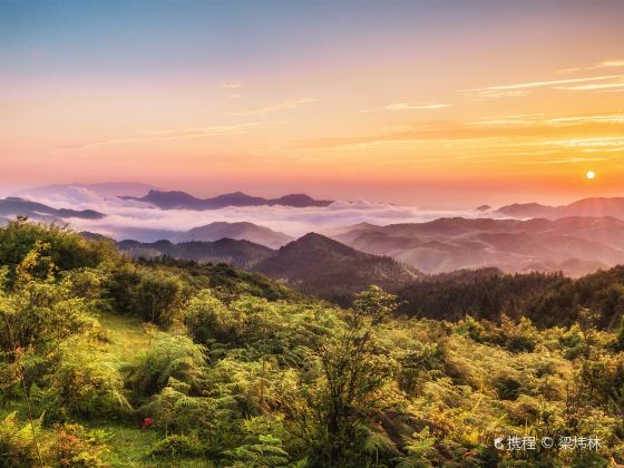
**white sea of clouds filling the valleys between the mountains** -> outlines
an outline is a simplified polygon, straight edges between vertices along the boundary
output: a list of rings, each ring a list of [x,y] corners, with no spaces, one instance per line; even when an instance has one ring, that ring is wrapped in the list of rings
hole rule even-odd
[[[106,216],[101,220],[70,218],[68,222],[79,231],[96,232],[116,240],[135,238],[144,242],[175,238],[176,234],[213,222],[251,222],[299,237],[308,232],[332,234],[363,222],[377,225],[422,223],[439,217],[478,217],[480,214],[476,211],[420,209],[365,199],[339,201],[326,207],[306,208],[276,205],[232,206],[201,212],[160,209],[143,202],[101,195],[80,186],[23,193],[21,196],[55,208],[98,211]]]

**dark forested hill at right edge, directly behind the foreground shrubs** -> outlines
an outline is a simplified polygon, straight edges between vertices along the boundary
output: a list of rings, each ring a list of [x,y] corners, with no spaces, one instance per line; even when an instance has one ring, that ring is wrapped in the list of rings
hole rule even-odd
[[[579,279],[560,273],[504,274],[496,269],[426,276],[397,291],[409,316],[499,321],[529,318],[540,326],[569,325],[591,311],[613,329],[624,314],[624,265]]]

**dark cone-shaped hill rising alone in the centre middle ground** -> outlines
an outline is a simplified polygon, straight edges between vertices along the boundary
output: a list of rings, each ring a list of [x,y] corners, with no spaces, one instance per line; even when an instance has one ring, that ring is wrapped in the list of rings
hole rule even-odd
[[[254,270],[343,304],[371,284],[393,290],[420,276],[392,259],[358,252],[315,233],[286,244]]]

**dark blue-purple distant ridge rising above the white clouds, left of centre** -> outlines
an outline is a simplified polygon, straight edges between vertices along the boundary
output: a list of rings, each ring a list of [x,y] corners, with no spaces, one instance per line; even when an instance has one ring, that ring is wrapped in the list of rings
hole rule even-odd
[[[234,192],[223,194],[213,198],[197,198],[186,192],[162,192],[150,189],[149,193],[143,197],[123,196],[123,199],[135,199],[139,202],[149,203],[162,209],[218,209],[227,206],[293,206],[304,208],[310,206],[329,206],[333,201],[329,199],[314,199],[305,194],[290,194],[280,198],[263,198],[259,196],[251,196],[242,192]]]

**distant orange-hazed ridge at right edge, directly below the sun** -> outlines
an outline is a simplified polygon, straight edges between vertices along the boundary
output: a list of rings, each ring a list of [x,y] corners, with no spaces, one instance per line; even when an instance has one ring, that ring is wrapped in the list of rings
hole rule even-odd
[[[624,220],[624,197],[593,197],[584,198],[568,205],[548,206],[539,203],[515,203],[501,206],[495,213],[521,218],[545,217],[558,220],[562,217],[613,216]]]

